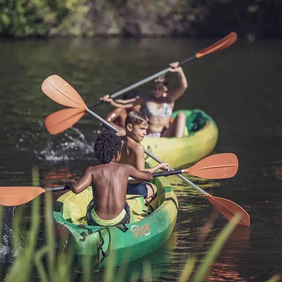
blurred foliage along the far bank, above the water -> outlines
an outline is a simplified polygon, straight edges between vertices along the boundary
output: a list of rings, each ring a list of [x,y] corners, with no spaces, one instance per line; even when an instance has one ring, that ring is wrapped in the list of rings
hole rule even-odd
[[[0,34],[281,36],[280,0],[0,0]]]

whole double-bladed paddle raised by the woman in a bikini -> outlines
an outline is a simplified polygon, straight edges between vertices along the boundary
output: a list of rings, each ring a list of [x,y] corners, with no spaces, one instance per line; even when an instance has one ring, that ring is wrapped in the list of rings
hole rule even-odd
[[[227,47],[229,47],[231,44],[233,44],[235,41],[237,40],[237,34],[235,32],[231,32],[229,33],[227,36],[223,37],[222,39],[218,40],[216,43],[210,45],[209,47],[201,50],[200,52],[198,52],[196,55],[180,62],[180,66],[181,65],[184,65],[188,62],[191,62],[193,60],[196,60],[198,58],[201,58],[205,55],[208,55],[208,54],[212,54],[212,53],[216,53],[218,51],[221,51]],[[170,70],[170,68],[166,68],[164,70],[161,70],[151,76],[148,76],[147,78],[141,80],[141,81],[138,81],[136,83],[134,83],[133,85],[131,86],[128,86],[120,91],[117,91],[115,93],[113,93],[110,97],[111,98],[115,98],[115,97],[118,97],[119,95],[125,93],[125,92],[128,92],[138,86],[141,86],[151,80],[153,80],[154,78],[157,78],[163,74],[165,74],[166,72],[168,72]],[[44,84],[42,85],[42,90],[43,90],[43,87],[48,87],[48,84]],[[67,91],[67,89],[65,89],[65,91]],[[44,92],[44,90],[43,90]],[[52,99],[52,98],[51,98]],[[55,100],[56,101],[56,100]],[[77,101],[78,102],[78,101]],[[91,109],[93,107],[96,107],[100,104],[102,104],[103,101],[98,101],[94,104],[92,104],[91,106],[89,106],[88,108]],[[65,105],[65,104],[64,104]],[[73,107],[73,108],[77,108],[75,106],[72,106],[72,103],[68,103],[67,105],[65,105],[67,107]],[[61,133],[63,132],[64,130],[70,128],[71,126],[73,126],[75,123],[77,123],[82,117],[83,115],[85,114],[85,111],[81,111],[81,110],[75,110],[73,108],[68,108],[68,109],[63,109],[63,110],[60,110],[58,112],[55,112],[55,113],[52,113],[50,116],[47,117],[47,124],[46,124],[46,128],[47,130],[49,131],[50,134],[58,134],[58,133]],[[52,121],[54,122],[55,121],[55,124],[54,126],[52,126]]]

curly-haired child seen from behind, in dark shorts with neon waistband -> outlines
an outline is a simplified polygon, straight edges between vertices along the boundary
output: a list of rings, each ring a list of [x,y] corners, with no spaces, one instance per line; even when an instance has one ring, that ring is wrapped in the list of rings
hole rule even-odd
[[[137,170],[129,164],[119,164],[122,142],[112,131],[104,131],[94,146],[95,156],[101,165],[86,169],[78,181],[66,185],[76,194],[92,185],[93,200],[87,206],[88,225],[111,226],[129,223],[130,212],[126,202],[128,176],[143,181],[152,180],[149,171]]]

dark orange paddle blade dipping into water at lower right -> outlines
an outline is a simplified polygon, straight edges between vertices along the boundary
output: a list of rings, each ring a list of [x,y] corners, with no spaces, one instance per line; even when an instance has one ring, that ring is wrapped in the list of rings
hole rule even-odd
[[[240,220],[237,224],[243,226],[250,226],[250,217],[242,207],[238,206],[232,201],[214,197],[208,193],[206,193],[206,197],[212,203],[212,205],[215,206],[216,209],[228,220],[231,220],[231,218],[236,215],[240,217]]]

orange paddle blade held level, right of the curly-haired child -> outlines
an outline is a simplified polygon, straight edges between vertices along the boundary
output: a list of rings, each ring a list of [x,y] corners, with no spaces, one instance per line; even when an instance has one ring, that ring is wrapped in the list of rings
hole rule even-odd
[[[238,171],[238,158],[232,153],[216,154],[197,162],[186,173],[201,178],[220,179],[233,177]]]

